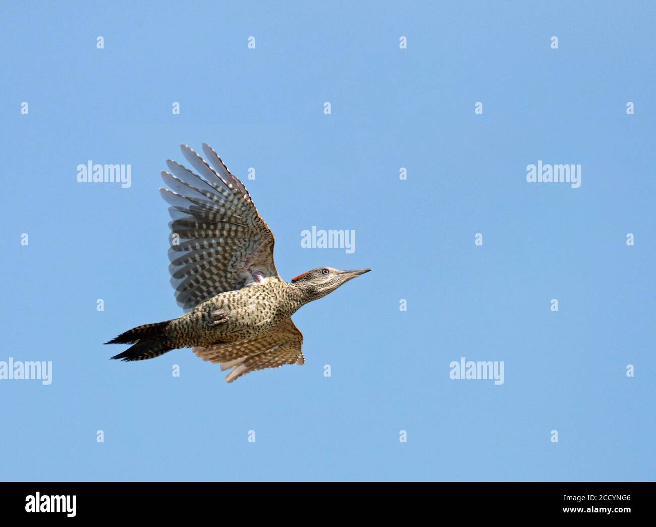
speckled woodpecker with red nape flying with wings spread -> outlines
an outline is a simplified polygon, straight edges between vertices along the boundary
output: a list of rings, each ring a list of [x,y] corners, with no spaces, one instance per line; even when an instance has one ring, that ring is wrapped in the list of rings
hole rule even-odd
[[[159,192],[172,221],[171,284],[186,313],[144,324],[106,344],[131,344],[113,359],[155,358],[190,347],[230,370],[226,381],[258,369],[304,364],[303,335],[291,320],[301,306],[325,297],[371,269],[318,267],[285,282],[274,263],[274,233],[251,195],[211,146],[207,160],[186,144],[194,171],[168,159]]]

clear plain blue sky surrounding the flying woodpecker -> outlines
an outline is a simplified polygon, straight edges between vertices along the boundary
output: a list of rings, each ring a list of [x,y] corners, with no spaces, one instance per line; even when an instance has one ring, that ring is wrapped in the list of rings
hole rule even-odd
[[[0,380],[0,479],[653,480],[654,4],[277,4],[3,3],[0,360],[53,373]],[[305,366],[108,360],[182,314],[182,142],[245,180],[286,280],[373,268],[293,317]],[[78,183],[89,159],[132,186]],[[581,188],[527,183],[538,159]],[[504,384],[450,379],[462,356]]]

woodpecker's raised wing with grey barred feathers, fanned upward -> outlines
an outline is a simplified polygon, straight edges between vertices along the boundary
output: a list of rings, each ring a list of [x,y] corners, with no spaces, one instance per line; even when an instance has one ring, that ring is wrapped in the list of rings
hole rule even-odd
[[[224,291],[258,279],[281,280],[274,263],[274,234],[251,196],[211,146],[209,161],[183,144],[182,154],[198,171],[167,160],[160,188],[171,205],[171,285],[178,305],[190,310]]]

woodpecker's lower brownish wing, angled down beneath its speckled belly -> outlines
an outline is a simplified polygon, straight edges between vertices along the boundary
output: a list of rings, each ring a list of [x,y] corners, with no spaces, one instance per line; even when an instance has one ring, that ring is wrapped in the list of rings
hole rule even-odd
[[[305,364],[301,347],[303,334],[287,318],[255,337],[211,347],[196,347],[194,353],[203,360],[220,363],[221,369],[232,369],[226,377],[232,383],[237,377],[264,368],[278,368],[284,364]]]

